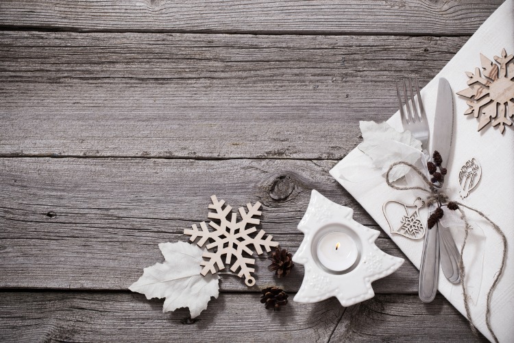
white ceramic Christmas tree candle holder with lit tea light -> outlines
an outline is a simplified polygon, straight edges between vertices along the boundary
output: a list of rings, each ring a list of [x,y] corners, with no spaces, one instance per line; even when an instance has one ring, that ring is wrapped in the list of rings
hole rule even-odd
[[[305,237],[293,261],[304,265],[305,276],[294,301],[317,303],[335,296],[341,305],[351,306],[372,298],[371,283],[400,268],[404,259],[377,248],[379,231],[359,224],[353,214],[312,191],[298,224]]]

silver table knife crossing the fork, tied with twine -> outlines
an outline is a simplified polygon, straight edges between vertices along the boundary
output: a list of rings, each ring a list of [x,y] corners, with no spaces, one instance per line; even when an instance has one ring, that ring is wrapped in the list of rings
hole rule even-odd
[[[448,157],[453,143],[453,94],[450,83],[445,78],[439,79],[437,90],[437,104],[434,119],[434,130],[432,133],[432,152],[437,150],[443,158],[445,167],[448,163]],[[439,224],[428,229],[425,235],[423,252],[421,254],[421,265],[419,267],[419,298],[425,303],[430,303],[437,293],[437,285],[439,284],[439,257],[440,257],[440,241],[439,241]],[[445,230],[445,228],[441,228]],[[446,235],[445,235],[446,237]],[[453,243],[454,244],[454,243]],[[450,270],[452,266],[448,249],[443,249],[443,260],[445,264],[443,270]],[[449,263],[449,264],[448,264]],[[450,277],[453,277],[450,275]]]

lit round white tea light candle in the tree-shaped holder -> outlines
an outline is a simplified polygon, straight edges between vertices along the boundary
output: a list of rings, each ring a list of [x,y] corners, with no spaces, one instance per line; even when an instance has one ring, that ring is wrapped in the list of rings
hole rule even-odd
[[[358,257],[354,239],[339,231],[321,237],[316,252],[319,262],[334,272],[342,272],[352,267]]]

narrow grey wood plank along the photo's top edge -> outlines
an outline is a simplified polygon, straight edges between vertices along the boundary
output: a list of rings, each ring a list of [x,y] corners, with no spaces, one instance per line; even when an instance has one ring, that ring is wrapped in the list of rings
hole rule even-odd
[[[1,24],[77,31],[473,34],[502,0],[3,0]]]

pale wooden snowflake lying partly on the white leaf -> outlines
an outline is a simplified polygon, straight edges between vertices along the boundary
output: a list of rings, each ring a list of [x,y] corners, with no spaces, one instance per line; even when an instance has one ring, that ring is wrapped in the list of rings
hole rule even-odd
[[[260,220],[258,218],[254,218],[256,215],[260,215],[260,202],[256,202],[252,206],[252,204],[248,203],[247,209],[248,212],[245,211],[244,207],[239,208],[239,214],[241,215],[241,221],[237,222],[236,213],[232,213],[232,217],[228,220],[228,215],[232,211],[232,206],[225,206],[223,209],[223,205],[225,204],[224,200],[218,200],[216,196],[211,196],[212,204],[209,205],[209,209],[215,210],[215,212],[209,212],[207,217],[215,220],[219,220],[220,224],[215,222],[209,222],[209,226],[214,228],[214,231],[209,231],[206,222],[201,222],[200,227],[201,230],[198,229],[196,224],[193,224],[192,230],[185,229],[184,235],[191,236],[191,241],[195,241],[198,237],[200,237],[199,241],[197,241],[198,246],[204,246],[207,241],[206,248],[211,251],[206,251],[202,255],[204,257],[204,261],[200,263],[200,265],[204,265],[204,268],[201,270],[201,274],[206,276],[209,272],[211,274],[215,274],[217,270],[221,270],[225,268],[225,264],[232,265],[230,270],[232,272],[236,272],[239,268],[241,270],[238,273],[239,277],[245,276],[245,283],[247,286],[253,286],[255,284],[255,279],[252,276],[252,273],[255,271],[254,268],[249,267],[248,265],[254,265],[255,259],[243,257],[243,252],[246,252],[248,255],[253,255],[254,252],[249,248],[250,245],[253,245],[257,254],[262,254],[262,248],[265,248],[267,252],[271,251],[271,247],[278,246],[278,242],[272,241],[273,237],[268,235],[266,239],[262,239],[265,235],[264,230],[260,230],[259,233],[255,237],[250,237],[249,235],[256,232],[255,226],[251,228],[246,228],[248,224],[259,224]],[[225,255],[225,261],[223,262],[223,255]],[[232,263],[232,257],[236,258],[236,261]]]

